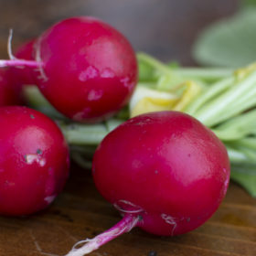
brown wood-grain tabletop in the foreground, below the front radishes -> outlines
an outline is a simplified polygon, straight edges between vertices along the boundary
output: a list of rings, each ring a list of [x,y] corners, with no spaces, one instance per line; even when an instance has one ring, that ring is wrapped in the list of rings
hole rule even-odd
[[[200,228],[173,238],[133,229],[91,255],[255,256],[255,217],[256,200],[231,183],[219,210]],[[30,217],[0,218],[0,255],[63,255],[119,219],[96,191],[90,171],[73,166],[67,187],[49,208]]]

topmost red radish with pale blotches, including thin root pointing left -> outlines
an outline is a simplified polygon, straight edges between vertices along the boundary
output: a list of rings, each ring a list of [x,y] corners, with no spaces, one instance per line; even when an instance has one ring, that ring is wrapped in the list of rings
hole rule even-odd
[[[79,122],[97,122],[118,112],[137,81],[132,46],[115,28],[91,16],[71,17],[48,28],[34,45],[34,60],[1,60],[25,66],[48,101]]]

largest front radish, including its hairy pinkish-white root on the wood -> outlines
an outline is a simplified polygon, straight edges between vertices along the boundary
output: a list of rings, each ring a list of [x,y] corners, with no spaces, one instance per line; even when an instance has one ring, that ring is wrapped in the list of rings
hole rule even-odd
[[[67,255],[87,254],[135,226],[160,236],[196,229],[219,208],[229,173],[224,144],[186,113],[128,120],[102,140],[92,167],[96,187],[123,219]]]

